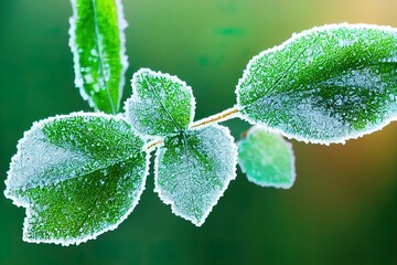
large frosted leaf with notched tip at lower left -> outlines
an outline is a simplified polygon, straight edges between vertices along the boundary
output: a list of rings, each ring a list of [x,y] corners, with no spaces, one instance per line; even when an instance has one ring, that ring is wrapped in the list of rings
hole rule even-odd
[[[77,113],[35,123],[18,144],[4,191],[26,208],[24,241],[79,244],[116,229],[144,188],[142,147],[120,117]]]

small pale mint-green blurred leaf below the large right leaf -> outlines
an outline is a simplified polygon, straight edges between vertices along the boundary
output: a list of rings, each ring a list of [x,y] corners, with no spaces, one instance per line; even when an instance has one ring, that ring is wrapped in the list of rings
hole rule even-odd
[[[292,145],[261,126],[238,144],[238,163],[248,180],[261,187],[289,189],[296,179]]]

